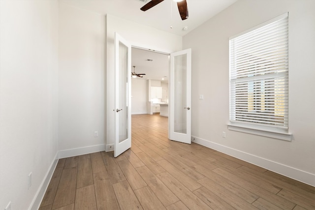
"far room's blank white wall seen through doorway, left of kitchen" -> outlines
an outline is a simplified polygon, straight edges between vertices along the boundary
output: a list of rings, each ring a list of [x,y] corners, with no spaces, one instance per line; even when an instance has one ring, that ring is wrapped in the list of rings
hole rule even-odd
[[[147,114],[147,80],[131,79],[131,115]]]

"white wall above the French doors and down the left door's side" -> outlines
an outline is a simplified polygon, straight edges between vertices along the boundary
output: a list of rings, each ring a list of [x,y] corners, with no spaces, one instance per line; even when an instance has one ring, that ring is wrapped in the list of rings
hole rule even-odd
[[[154,49],[161,52],[182,50],[182,37],[140,25],[126,19],[107,14],[106,16],[106,139],[107,145],[114,144],[114,33],[118,32],[132,46]]]

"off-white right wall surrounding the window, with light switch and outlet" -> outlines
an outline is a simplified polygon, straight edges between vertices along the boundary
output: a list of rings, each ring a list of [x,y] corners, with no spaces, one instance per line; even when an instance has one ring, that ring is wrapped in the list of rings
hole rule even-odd
[[[192,49],[192,135],[199,143],[315,185],[315,1],[238,0],[183,37]],[[289,12],[291,142],[227,130],[228,39]],[[199,94],[204,100],[198,100]],[[206,116],[206,117],[205,117]],[[222,131],[226,138],[222,138]]]

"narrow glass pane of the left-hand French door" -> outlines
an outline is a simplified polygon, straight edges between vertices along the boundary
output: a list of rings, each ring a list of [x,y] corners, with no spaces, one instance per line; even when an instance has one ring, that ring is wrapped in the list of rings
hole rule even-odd
[[[119,43],[119,143],[128,138],[128,68],[127,68],[128,48],[123,43]]]

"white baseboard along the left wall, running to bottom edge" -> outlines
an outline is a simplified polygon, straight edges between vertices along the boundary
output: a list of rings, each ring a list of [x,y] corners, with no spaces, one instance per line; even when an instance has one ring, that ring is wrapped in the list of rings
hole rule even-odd
[[[46,192],[47,187],[49,185],[49,182],[50,182],[51,178],[53,177],[57,163],[58,163],[58,151],[55,155],[55,158],[54,158],[52,164],[50,165],[50,167],[46,173],[46,176],[44,177],[42,183],[40,184],[40,186],[36,192],[36,195],[32,201],[32,204],[30,205],[29,210],[38,210],[39,209],[39,206],[41,204],[41,201],[44,198],[44,195],[45,195],[45,192]]]

